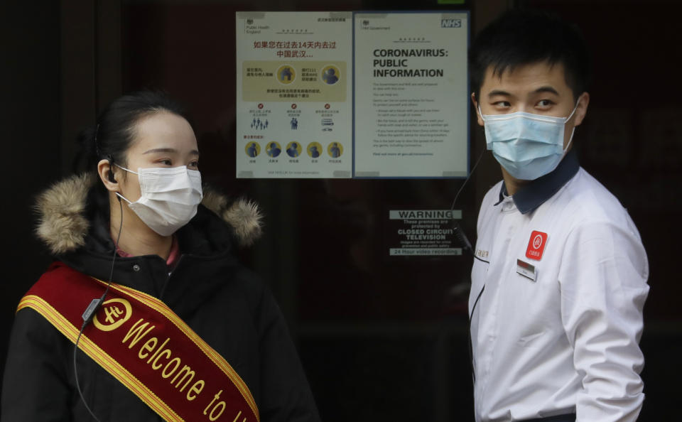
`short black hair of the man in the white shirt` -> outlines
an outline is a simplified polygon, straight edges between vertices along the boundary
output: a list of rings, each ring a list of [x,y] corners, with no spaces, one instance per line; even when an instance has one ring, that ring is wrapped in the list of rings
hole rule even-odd
[[[481,31],[469,51],[469,74],[477,101],[489,67],[499,77],[519,65],[538,62],[563,65],[573,99],[588,90],[592,61],[577,26],[544,11],[511,9],[503,13]]]

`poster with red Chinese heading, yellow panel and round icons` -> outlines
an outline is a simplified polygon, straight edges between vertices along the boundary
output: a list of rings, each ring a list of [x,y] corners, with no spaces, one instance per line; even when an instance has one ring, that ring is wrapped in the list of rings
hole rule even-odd
[[[237,177],[352,176],[352,12],[237,13]]]

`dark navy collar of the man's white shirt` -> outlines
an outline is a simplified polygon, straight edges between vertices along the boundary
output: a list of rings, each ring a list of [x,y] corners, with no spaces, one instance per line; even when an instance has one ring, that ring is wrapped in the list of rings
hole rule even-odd
[[[573,178],[575,173],[578,173],[579,168],[578,153],[572,149],[566,153],[566,156],[551,173],[547,173],[541,178],[532,180],[531,183],[524,185],[511,196],[511,199],[514,200],[514,204],[521,214],[534,211],[546,200],[552,198],[568,180]],[[502,202],[505,195],[507,195],[507,186],[504,185],[503,181],[502,188],[499,190],[499,201],[495,205]]]

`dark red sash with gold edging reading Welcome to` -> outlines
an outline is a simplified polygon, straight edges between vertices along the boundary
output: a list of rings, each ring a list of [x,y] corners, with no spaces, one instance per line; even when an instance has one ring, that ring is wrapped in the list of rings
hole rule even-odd
[[[69,340],[107,283],[55,263],[21,299]],[[222,356],[153,296],[112,284],[80,350],[166,421],[258,422],[251,392]]]

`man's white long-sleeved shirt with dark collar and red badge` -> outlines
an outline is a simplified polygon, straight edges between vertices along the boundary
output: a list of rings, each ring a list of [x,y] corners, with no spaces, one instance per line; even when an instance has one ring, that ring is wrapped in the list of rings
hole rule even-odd
[[[618,200],[569,153],[483,200],[469,298],[477,421],[635,421],[649,265]],[[531,237],[532,234],[532,237]]]

